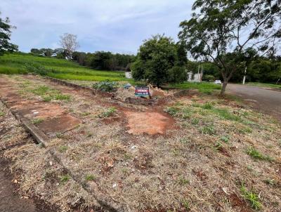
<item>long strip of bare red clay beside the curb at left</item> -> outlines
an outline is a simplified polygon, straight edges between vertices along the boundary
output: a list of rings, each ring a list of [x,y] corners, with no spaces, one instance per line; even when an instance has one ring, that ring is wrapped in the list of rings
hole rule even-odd
[[[45,133],[63,133],[69,131],[80,123],[79,119],[72,117],[60,105],[39,100],[24,100],[11,82],[5,77],[0,78],[0,97],[8,106],[18,114],[32,119],[44,119],[38,127]]]

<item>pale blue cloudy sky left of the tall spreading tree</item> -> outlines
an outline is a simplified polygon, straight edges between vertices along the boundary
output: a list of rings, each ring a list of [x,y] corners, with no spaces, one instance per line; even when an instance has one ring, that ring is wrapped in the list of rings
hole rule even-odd
[[[77,34],[79,51],[136,53],[144,39],[166,34],[177,39],[179,23],[190,17],[190,0],[1,0],[11,41],[20,51],[58,48],[61,34]]]

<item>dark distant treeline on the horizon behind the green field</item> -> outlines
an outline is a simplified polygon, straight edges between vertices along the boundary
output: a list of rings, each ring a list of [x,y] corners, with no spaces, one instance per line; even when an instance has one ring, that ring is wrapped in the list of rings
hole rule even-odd
[[[51,48],[32,48],[30,53],[60,59],[65,59],[66,56],[63,48],[55,48],[54,50]],[[75,51],[72,54],[72,60],[78,62],[79,65],[92,67],[93,69],[129,71],[131,63],[136,60],[136,56],[105,51],[96,51],[95,53]]]

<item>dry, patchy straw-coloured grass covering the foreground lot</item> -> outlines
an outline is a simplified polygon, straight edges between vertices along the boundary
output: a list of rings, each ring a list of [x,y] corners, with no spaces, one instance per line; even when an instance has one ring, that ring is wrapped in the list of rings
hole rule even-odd
[[[126,105],[40,77],[1,77],[10,86],[6,93],[1,87],[1,98],[58,105],[80,121],[48,133],[46,148],[27,143],[4,152],[24,195],[65,211],[98,207],[94,196],[124,211],[280,211],[280,124],[242,103],[192,92],[167,105]],[[13,129],[1,145],[20,140],[22,128],[11,124],[4,105],[0,111],[1,123]],[[50,119],[29,118],[42,130]],[[162,134],[140,133],[155,126]]]

